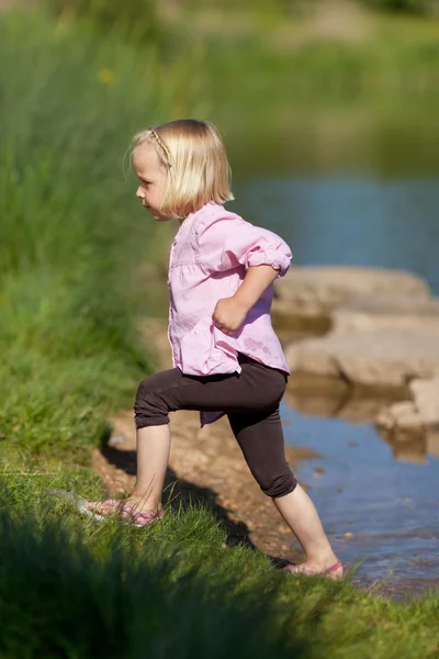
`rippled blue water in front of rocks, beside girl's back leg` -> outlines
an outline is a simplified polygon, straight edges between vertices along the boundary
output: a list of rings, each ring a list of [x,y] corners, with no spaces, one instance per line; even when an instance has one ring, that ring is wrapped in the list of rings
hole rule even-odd
[[[438,437],[435,457],[425,438],[387,444],[370,423],[308,416],[284,401],[285,440],[320,456],[296,474],[348,569],[363,560],[353,582],[383,580],[380,592],[401,597],[438,587]]]

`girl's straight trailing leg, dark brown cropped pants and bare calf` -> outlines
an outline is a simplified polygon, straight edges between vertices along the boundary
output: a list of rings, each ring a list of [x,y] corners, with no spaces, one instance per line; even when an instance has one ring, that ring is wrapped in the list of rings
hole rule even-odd
[[[279,406],[266,413],[228,414],[228,418],[251,473],[302,545],[306,558],[297,569],[324,572],[333,567],[337,557],[318,513],[285,460]],[[340,567],[333,576],[341,574]]]

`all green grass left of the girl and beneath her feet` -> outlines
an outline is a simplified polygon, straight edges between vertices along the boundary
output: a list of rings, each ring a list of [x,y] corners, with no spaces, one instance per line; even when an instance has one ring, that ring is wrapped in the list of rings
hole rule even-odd
[[[124,179],[130,136],[214,114],[202,48],[165,65],[154,42],[99,34],[68,15],[0,20],[1,657],[436,657],[438,593],[396,604],[285,579],[227,547],[199,502],[139,530],[44,495],[103,494],[90,447],[154,369],[135,322],[166,235]]]

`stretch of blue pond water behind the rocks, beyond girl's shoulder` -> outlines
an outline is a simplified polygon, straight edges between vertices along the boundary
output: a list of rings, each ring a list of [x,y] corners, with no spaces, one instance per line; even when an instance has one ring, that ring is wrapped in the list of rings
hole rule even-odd
[[[239,212],[279,233],[296,265],[410,270],[439,294],[439,179],[260,178],[238,187]]]

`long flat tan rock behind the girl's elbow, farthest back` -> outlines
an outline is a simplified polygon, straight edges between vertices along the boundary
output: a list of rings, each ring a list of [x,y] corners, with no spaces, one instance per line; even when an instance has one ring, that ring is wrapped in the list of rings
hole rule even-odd
[[[394,291],[414,300],[430,298],[424,279],[402,270],[293,266],[275,280],[272,311],[278,316],[327,319],[337,304],[352,295],[390,295]]]

